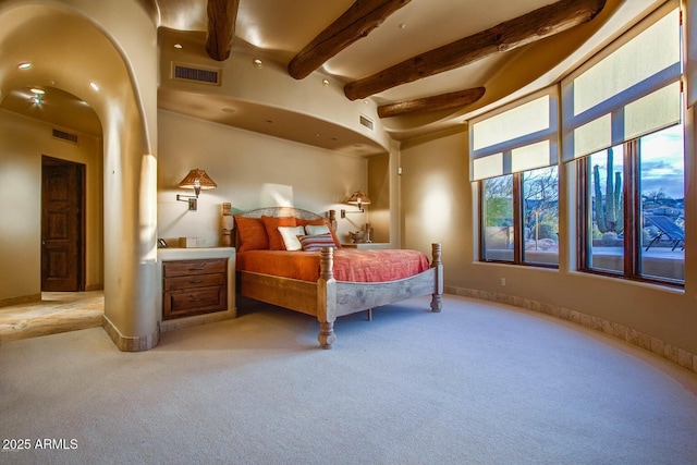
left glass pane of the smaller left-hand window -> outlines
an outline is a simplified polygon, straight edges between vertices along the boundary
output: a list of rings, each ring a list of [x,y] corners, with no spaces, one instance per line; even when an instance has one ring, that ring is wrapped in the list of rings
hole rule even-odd
[[[484,258],[513,261],[513,175],[484,182]]]

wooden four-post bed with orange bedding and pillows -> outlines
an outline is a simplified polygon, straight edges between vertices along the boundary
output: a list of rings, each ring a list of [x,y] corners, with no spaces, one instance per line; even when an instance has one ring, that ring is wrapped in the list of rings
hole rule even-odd
[[[327,219],[298,208],[269,207],[235,215],[237,292],[244,297],[316,317],[319,321],[317,340],[322,348],[331,348],[337,339],[334,321],[344,315],[429,294],[431,311],[441,311],[443,267],[440,244],[432,244],[430,261],[416,250],[362,250],[341,247],[334,233],[335,220],[332,213],[333,211],[330,211]],[[309,246],[307,249],[286,249],[283,246],[283,237],[279,244],[279,238],[272,236],[276,230],[292,232],[292,228],[297,225],[307,230],[309,227],[321,229],[322,224],[329,227],[331,238],[328,241],[331,241],[333,246],[319,247],[320,241],[314,244],[316,249]],[[269,233],[266,240],[261,231]],[[289,235],[285,234],[285,238]],[[329,234],[296,236],[301,241],[311,242],[316,237],[327,235]],[[302,245],[305,246],[305,242]],[[386,279],[384,274],[376,276],[370,272],[356,276],[355,270],[352,270],[351,260],[375,264],[388,260],[390,255],[400,254],[418,258],[416,265],[388,266],[390,269],[401,269],[398,270],[398,278],[388,276]],[[297,260],[298,264],[314,260],[315,274],[308,274],[306,271],[298,277],[295,271],[289,271],[289,266],[279,265],[284,262],[283,260]],[[297,267],[307,270],[307,265]],[[348,274],[346,269],[350,270]],[[334,271],[341,271],[342,274],[335,277]],[[347,277],[346,280],[344,277]]]

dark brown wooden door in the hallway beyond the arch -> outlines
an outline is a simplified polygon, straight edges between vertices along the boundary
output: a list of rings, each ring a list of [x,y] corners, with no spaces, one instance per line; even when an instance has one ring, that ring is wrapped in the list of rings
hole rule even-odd
[[[84,164],[42,157],[41,291],[84,291]]]

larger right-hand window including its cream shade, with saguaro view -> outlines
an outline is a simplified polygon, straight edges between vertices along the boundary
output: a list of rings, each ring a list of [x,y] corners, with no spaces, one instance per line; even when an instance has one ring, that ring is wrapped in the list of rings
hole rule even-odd
[[[684,284],[680,36],[667,3],[562,82],[583,271]]]

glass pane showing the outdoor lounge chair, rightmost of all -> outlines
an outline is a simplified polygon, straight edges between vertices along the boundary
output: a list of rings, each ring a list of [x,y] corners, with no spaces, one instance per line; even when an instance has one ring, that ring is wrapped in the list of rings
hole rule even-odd
[[[683,127],[639,139],[641,274],[685,280]]]

